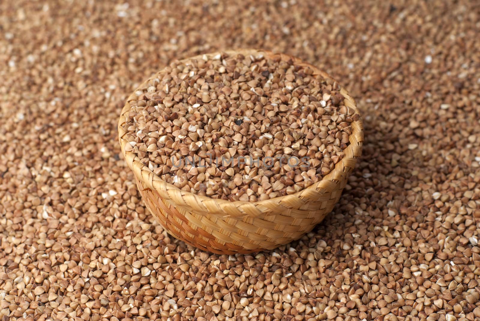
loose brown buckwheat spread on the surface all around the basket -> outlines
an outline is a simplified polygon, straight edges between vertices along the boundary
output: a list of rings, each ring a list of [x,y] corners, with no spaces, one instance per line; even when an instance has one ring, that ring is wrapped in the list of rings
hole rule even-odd
[[[0,1],[0,320],[477,321],[478,1]],[[117,124],[175,59],[327,71],[363,153],[300,240],[212,255],[145,210]]]

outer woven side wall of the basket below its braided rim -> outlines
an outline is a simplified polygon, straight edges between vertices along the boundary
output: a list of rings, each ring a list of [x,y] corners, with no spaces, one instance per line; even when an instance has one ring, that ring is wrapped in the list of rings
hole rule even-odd
[[[289,209],[283,213],[257,217],[198,213],[163,200],[136,179],[148,210],[175,238],[202,250],[218,254],[271,250],[300,238],[321,222],[338,202],[346,180],[325,192],[315,211]]]

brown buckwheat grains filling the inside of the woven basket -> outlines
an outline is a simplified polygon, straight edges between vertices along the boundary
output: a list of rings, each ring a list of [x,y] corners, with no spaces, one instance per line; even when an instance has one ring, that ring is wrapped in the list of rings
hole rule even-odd
[[[255,202],[321,180],[359,115],[338,83],[284,60],[218,53],[170,64],[130,101],[125,150],[211,198]]]

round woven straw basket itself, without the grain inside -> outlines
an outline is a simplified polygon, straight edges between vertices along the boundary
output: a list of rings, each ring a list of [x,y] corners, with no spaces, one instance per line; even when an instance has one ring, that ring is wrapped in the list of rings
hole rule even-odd
[[[293,59],[297,65],[310,67],[314,74],[331,79],[318,68],[287,55],[254,49],[227,53],[254,56],[263,54],[265,57]],[[207,56],[216,54],[218,53]],[[201,59],[202,56],[193,59]],[[150,79],[153,78],[155,76]],[[149,80],[138,89],[145,88]],[[358,112],[355,101],[347,91],[342,88],[340,93],[346,97],[344,104]],[[258,202],[214,200],[168,184],[145,166],[135,154],[125,151],[125,144],[128,143],[124,139],[125,115],[131,109],[129,102],[136,99],[135,94],[127,99],[121,112],[118,131],[122,153],[135,174],[146,207],[174,237],[218,254],[271,250],[311,231],[338,202],[348,175],[362,151],[363,128],[360,119],[351,123],[353,131],[349,136],[350,143],[344,151],[345,157],[336,164],[334,170],[308,188]]]

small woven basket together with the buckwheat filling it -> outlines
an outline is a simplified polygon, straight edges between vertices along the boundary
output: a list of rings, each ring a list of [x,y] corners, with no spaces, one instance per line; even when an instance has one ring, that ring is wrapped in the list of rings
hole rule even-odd
[[[192,61],[198,71],[182,72],[182,68],[189,70]],[[288,70],[288,74],[275,73],[269,63]],[[118,130],[122,153],[135,175],[146,207],[171,235],[214,253],[270,250],[300,238],[332,211],[363,143],[358,110],[345,89],[300,59],[253,49],[200,55],[180,61],[173,69],[167,68],[168,72],[152,76],[127,99]],[[243,77],[242,71],[249,76]],[[314,97],[316,87],[304,85],[312,79],[325,80],[326,94],[320,97],[330,99],[328,104]],[[178,85],[168,86],[166,82]],[[267,97],[261,86],[254,87],[259,82],[274,94]],[[198,90],[192,90],[194,86]],[[333,95],[335,88],[338,92]],[[343,101],[338,101],[338,97]],[[222,99],[228,100],[224,107],[220,106]],[[300,115],[305,109],[303,103],[312,106],[307,112],[313,110],[313,115],[315,110],[322,113],[326,110],[327,114],[317,115],[316,119],[307,118],[307,112]],[[135,106],[141,112],[135,114],[132,111]],[[347,110],[348,115],[332,114],[337,109]],[[349,116],[353,114],[355,117]],[[139,125],[140,118],[143,122]],[[183,126],[180,119],[190,123]],[[282,123],[288,119],[291,123]],[[226,129],[217,129],[216,121],[222,121]],[[256,125],[255,122],[261,121],[262,126]],[[324,131],[318,126],[313,131],[303,129],[312,123],[320,124]],[[164,125],[168,125],[167,129]],[[277,130],[270,133],[274,127],[284,129],[286,134]],[[318,133],[318,137],[313,133]],[[316,145],[302,146],[309,142]],[[253,168],[250,163],[243,169],[232,163],[230,167],[213,169],[190,166],[186,171],[174,168],[177,163],[168,162],[170,155],[176,155],[177,160],[182,155],[198,158],[215,144],[220,144],[216,146],[217,154],[223,155],[287,154],[319,158],[324,153],[322,148],[329,153],[313,160],[312,164],[318,168],[310,168],[308,172],[294,170],[290,164],[281,162],[279,167],[268,171]],[[234,165],[237,167],[233,168]],[[245,175],[246,170],[260,175],[252,178]]]

